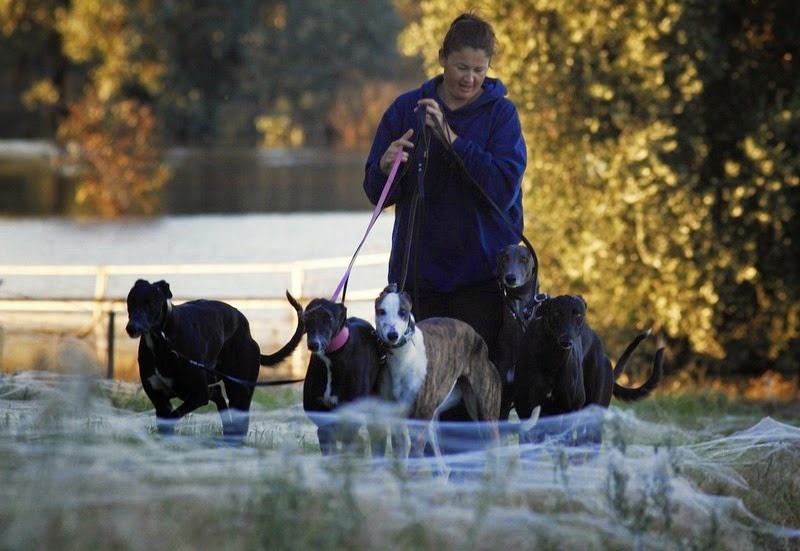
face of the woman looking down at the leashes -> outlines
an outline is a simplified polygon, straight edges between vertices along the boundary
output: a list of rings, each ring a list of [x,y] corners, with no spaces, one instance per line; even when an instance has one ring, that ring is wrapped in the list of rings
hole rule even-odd
[[[462,48],[447,57],[439,52],[444,69],[442,99],[450,109],[463,107],[481,94],[489,61],[486,52],[474,48]]]

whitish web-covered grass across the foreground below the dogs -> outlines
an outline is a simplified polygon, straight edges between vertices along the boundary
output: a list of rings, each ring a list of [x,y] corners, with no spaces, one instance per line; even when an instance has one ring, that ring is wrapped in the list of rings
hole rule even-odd
[[[254,404],[245,444],[233,446],[220,438],[210,409],[180,421],[175,436],[158,436],[139,385],[44,372],[0,377],[0,547],[800,544],[798,526],[765,520],[770,500],[793,503],[796,520],[800,491],[792,474],[800,466],[800,429],[769,417],[744,426],[725,417],[690,430],[612,405],[566,422],[539,420],[546,437],[535,444],[520,444],[518,423],[506,424],[499,446],[487,446],[480,427],[451,424],[438,432],[451,453],[406,462],[391,451],[378,459],[323,457],[301,389],[293,391],[289,407]],[[130,408],[137,400],[139,412]],[[323,420],[385,426],[395,413],[368,402]],[[598,423],[599,449],[562,441]],[[769,487],[774,480],[785,487]]]

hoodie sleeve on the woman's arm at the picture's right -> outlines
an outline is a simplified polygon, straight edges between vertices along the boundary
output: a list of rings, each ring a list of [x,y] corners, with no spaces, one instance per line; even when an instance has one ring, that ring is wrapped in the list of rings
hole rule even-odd
[[[527,149],[516,106],[499,102],[489,121],[486,148],[459,136],[453,149],[469,173],[503,210],[511,209],[521,193]]]

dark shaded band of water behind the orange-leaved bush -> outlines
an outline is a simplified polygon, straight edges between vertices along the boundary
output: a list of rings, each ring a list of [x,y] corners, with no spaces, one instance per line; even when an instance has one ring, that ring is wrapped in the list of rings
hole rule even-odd
[[[0,141],[0,214],[69,215],[74,182],[54,170],[56,150]],[[369,210],[361,187],[366,153],[331,149],[176,148],[160,215]]]

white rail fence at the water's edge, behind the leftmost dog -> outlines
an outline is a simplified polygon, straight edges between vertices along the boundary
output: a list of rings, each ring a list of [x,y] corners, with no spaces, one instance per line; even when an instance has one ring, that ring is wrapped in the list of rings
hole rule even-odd
[[[355,267],[368,267],[386,265],[389,260],[388,253],[362,254],[358,257]],[[114,373],[114,334],[115,315],[125,311],[125,296],[114,295],[109,292],[109,282],[116,276],[134,277],[167,277],[172,275],[263,275],[288,277],[288,290],[300,301],[312,297],[306,296],[306,279],[309,273],[319,270],[341,269],[342,273],[351,261],[350,257],[333,257],[311,260],[297,260],[292,262],[274,263],[220,263],[220,264],[112,264],[112,265],[18,265],[0,264],[0,278],[30,277],[30,278],[66,278],[66,277],[91,277],[94,278],[93,291],[89,296],[10,296],[4,294],[0,286],[0,312],[15,314],[91,314],[91,331],[95,336],[97,357],[105,360],[108,376]],[[333,292],[338,279],[331,283],[330,291]],[[378,296],[381,282],[375,281],[375,287],[348,290],[348,302],[372,301]],[[286,307],[286,298],[283,293],[270,295],[274,287],[264,286],[262,296],[248,293],[250,296],[230,297],[198,296],[187,297],[181,295],[181,300],[176,304],[191,300],[192,298],[214,298],[229,302],[237,308],[249,310],[277,310]],[[127,294],[127,290],[126,290]]]

